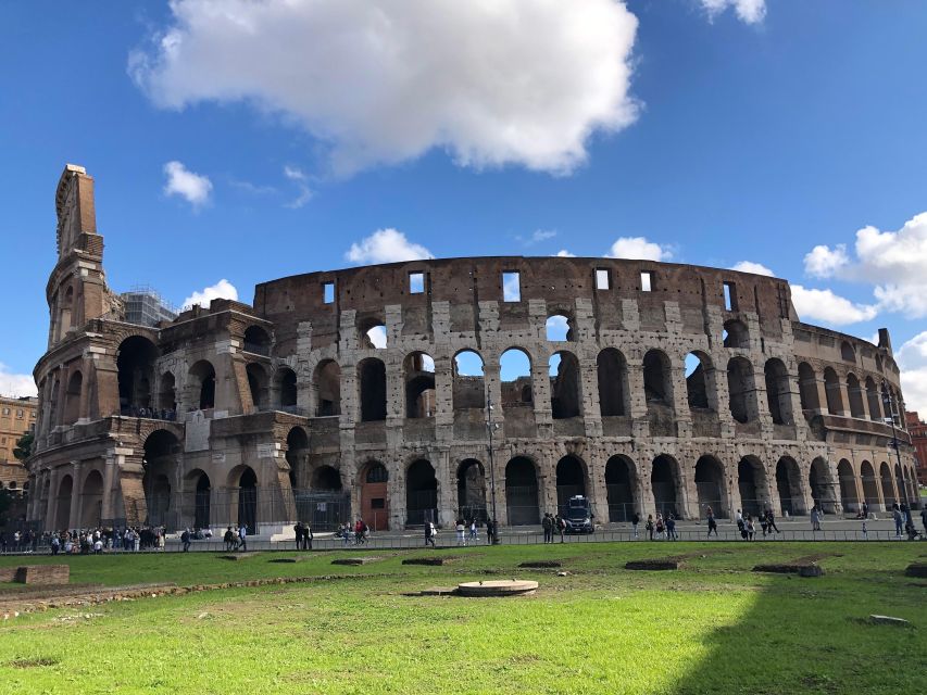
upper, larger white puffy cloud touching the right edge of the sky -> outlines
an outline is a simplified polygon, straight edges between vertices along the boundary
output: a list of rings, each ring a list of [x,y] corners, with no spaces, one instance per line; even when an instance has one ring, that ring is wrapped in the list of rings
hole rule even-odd
[[[927,212],[898,231],[863,227],[851,254],[845,244],[817,245],[805,256],[805,271],[818,277],[873,285],[878,306],[912,318],[927,316]]]

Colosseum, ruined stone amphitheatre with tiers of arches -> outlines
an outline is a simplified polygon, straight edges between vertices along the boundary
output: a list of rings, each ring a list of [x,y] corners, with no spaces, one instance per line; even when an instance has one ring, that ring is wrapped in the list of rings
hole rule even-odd
[[[874,345],[804,324],[785,280],[427,260],[152,317],[107,286],[82,167],[55,205],[37,527],[401,530],[486,518],[493,502],[515,526],[575,494],[601,523],[918,498],[888,331]]]

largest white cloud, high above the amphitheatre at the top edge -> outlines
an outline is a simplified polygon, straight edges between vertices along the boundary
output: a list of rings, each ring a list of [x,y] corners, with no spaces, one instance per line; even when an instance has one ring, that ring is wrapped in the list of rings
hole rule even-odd
[[[631,124],[637,17],[614,0],[174,0],[128,71],[159,106],[247,102],[330,147],[336,174],[446,149],[568,173]]]

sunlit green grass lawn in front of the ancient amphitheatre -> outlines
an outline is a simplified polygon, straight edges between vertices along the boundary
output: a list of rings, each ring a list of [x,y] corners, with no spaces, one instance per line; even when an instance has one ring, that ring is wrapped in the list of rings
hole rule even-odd
[[[434,551],[330,565],[346,554],[70,558],[74,583],[359,577],[22,616],[0,626],[0,693],[913,693],[927,673],[927,582],[903,576],[927,543],[500,546],[439,551],[456,556],[444,567],[401,565]],[[623,569],[672,554],[684,570]],[[825,555],[825,577],[750,571],[809,555]],[[569,576],[516,569],[540,558]],[[497,571],[541,590],[401,595]]]

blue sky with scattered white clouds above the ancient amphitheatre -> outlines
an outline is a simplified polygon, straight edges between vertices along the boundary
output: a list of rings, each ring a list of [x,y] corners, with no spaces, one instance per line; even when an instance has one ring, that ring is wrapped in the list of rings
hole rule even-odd
[[[927,409],[927,3],[209,7],[0,4],[0,391],[45,350],[73,162],[117,291],[250,302],[423,254],[752,262],[810,323],[889,327]]]

